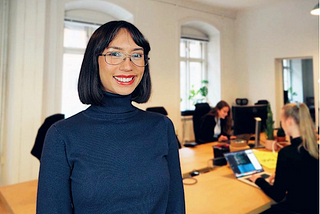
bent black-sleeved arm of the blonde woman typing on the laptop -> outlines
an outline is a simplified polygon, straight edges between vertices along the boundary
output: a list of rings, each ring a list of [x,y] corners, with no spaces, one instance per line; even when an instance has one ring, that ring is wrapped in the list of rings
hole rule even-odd
[[[270,185],[263,178],[258,178],[256,184],[273,200],[280,202],[286,196],[286,191],[288,190],[287,184],[290,179],[290,162],[288,162],[289,157],[280,150],[278,154],[276,174],[274,179],[274,184]]]

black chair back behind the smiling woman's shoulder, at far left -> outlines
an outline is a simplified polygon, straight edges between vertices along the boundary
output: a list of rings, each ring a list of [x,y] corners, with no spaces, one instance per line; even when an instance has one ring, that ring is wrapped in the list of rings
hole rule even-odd
[[[33,148],[31,150],[31,154],[35,156],[39,161],[41,159],[42,147],[48,129],[52,124],[62,119],[64,119],[64,114],[54,114],[47,117],[43,124],[40,126]]]

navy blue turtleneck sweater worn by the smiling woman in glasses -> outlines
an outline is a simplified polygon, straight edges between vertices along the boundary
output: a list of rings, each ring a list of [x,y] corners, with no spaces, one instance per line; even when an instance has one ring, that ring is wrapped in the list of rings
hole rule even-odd
[[[50,127],[37,213],[185,213],[177,145],[168,117],[105,93],[103,106]]]

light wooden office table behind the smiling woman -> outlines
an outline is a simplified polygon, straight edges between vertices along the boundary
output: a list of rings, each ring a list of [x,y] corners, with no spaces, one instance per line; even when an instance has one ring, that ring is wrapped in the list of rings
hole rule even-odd
[[[180,149],[182,173],[212,166],[215,144]],[[187,214],[259,213],[272,203],[260,189],[237,181],[228,166],[194,178],[195,185],[184,185]],[[0,211],[1,203],[7,207],[1,214],[35,214],[36,191],[37,180],[0,187]]]

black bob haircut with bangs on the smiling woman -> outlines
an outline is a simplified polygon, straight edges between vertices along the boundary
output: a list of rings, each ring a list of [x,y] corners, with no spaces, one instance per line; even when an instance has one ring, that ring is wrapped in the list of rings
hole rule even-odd
[[[133,41],[143,48],[145,61],[148,62],[150,45],[143,34],[133,24],[126,21],[111,21],[101,25],[91,36],[84,53],[79,81],[78,94],[83,104],[102,105],[104,88],[99,75],[98,57],[109,46],[120,29],[126,29]],[[144,68],[139,85],[132,92],[132,101],[146,103],[151,94],[149,63]]]

